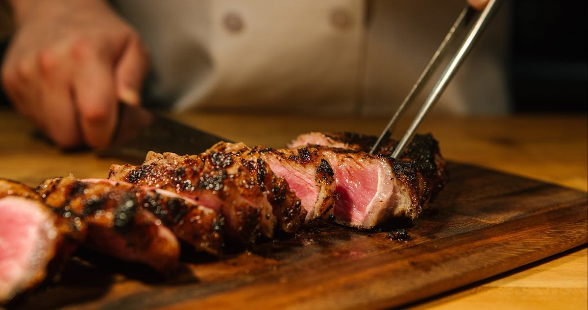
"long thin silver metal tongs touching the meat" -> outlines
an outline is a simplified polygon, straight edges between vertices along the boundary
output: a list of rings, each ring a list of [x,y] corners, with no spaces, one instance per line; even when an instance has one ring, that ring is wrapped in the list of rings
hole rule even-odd
[[[437,48],[436,52],[433,54],[433,57],[431,58],[431,60],[429,60],[429,63],[427,63],[425,70],[423,70],[423,73],[420,74],[419,78],[415,82],[415,85],[412,86],[412,89],[410,89],[410,92],[405,97],[402,104],[400,104],[400,106],[396,110],[396,113],[392,116],[392,119],[390,119],[390,122],[387,124],[382,134],[380,134],[380,137],[373,145],[372,150],[370,150],[370,154],[375,153],[380,144],[382,144],[382,141],[387,140],[392,135],[392,133],[396,129],[398,120],[405,112],[406,107],[413,102],[413,99],[415,99],[416,94],[420,92],[423,85],[425,85],[425,83],[429,79],[430,74],[437,68],[437,66],[439,65],[439,59],[446,52],[447,45],[449,45],[449,43],[453,41],[453,38],[455,38],[456,33],[461,33],[465,31],[467,26],[471,25],[469,32],[463,39],[463,42],[457,49],[457,52],[449,61],[449,64],[446,66],[445,71],[443,71],[439,80],[437,80],[437,83],[433,87],[433,90],[431,90],[429,97],[427,97],[425,103],[423,103],[422,107],[420,108],[419,113],[416,114],[415,119],[412,121],[412,123],[410,123],[410,126],[408,127],[405,134],[402,136],[402,139],[400,139],[398,145],[394,149],[392,157],[397,158],[398,156],[400,156],[400,154],[402,154],[402,151],[404,151],[406,145],[409,143],[410,140],[412,140],[413,136],[415,135],[416,129],[417,127],[419,127],[420,122],[422,122],[423,117],[425,117],[425,115],[427,114],[427,112],[429,112],[431,107],[435,105],[437,99],[439,99],[439,96],[443,93],[443,90],[445,90],[445,87],[453,78],[453,75],[455,75],[457,69],[459,69],[459,66],[462,64],[463,60],[469,54],[470,50],[472,50],[473,46],[477,41],[477,38],[480,36],[480,33],[483,31],[487,23],[490,21],[490,18],[492,18],[492,16],[494,15],[494,12],[496,11],[497,7],[499,6],[498,2],[501,1],[490,0],[490,2],[488,2],[488,4],[486,5],[486,8],[480,12],[477,12],[469,5],[467,5],[466,8],[462,10],[459,16],[457,16],[455,23],[453,23],[453,26],[449,29],[449,32],[447,32],[447,35],[443,39],[443,42],[441,42],[441,45],[439,45],[439,48]],[[474,17],[476,16],[476,14],[478,15],[474,21]]]

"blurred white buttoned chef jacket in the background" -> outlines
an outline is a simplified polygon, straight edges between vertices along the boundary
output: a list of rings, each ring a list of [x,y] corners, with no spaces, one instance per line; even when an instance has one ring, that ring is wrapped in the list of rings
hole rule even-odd
[[[151,50],[149,95],[176,110],[363,115],[396,110],[465,4],[115,2]],[[435,111],[508,111],[505,16],[495,17]]]

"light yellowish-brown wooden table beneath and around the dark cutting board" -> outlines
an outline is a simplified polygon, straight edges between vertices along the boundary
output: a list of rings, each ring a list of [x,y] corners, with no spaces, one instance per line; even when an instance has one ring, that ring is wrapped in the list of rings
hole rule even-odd
[[[380,118],[185,114],[180,120],[232,140],[281,147],[298,133],[349,130],[377,134]],[[35,137],[33,127],[0,110],[0,177],[36,185],[70,173],[105,177],[120,161],[90,151],[63,152]],[[433,132],[443,155],[578,190],[588,190],[587,116],[429,116],[419,132]],[[415,309],[586,309],[586,245],[410,305]]]

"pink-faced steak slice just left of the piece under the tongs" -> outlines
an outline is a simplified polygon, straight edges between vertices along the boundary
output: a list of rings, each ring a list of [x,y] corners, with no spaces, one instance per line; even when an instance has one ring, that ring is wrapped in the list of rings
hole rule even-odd
[[[276,150],[255,147],[272,171],[288,181],[306,211],[305,221],[326,214],[335,203],[335,179],[329,162],[316,149]]]

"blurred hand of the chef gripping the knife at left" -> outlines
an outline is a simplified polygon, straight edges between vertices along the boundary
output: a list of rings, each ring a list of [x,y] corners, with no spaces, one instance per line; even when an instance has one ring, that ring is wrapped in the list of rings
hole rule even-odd
[[[12,0],[2,68],[16,110],[60,147],[108,144],[118,100],[140,104],[149,66],[136,32],[103,0]]]

